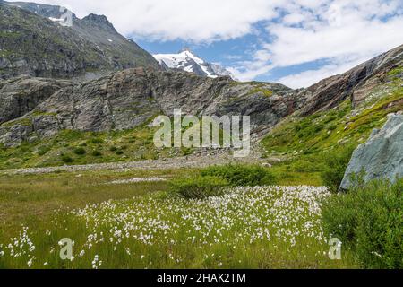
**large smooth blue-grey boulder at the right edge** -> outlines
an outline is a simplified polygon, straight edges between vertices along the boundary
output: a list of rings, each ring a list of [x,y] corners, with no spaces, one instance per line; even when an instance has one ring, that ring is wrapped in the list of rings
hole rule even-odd
[[[393,115],[381,130],[365,144],[358,146],[348,164],[340,189],[351,187],[351,176],[365,171],[364,180],[388,178],[394,182],[403,177],[403,116]]]

